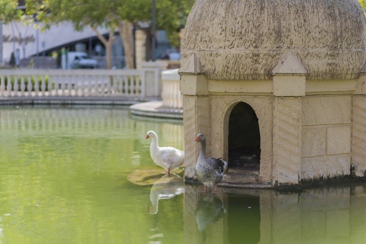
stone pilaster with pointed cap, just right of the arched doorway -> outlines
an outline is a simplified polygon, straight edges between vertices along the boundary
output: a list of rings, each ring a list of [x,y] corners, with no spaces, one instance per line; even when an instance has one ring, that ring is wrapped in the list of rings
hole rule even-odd
[[[273,68],[273,183],[299,184],[301,180],[301,97],[306,73],[297,55],[285,53]]]

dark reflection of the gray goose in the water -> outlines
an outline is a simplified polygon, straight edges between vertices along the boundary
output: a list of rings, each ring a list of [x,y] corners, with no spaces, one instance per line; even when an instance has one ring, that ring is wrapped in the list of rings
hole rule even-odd
[[[206,228],[214,225],[226,213],[224,204],[216,195],[209,193],[204,195],[196,205],[195,217],[198,230],[202,234],[201,243],[206,242]]]

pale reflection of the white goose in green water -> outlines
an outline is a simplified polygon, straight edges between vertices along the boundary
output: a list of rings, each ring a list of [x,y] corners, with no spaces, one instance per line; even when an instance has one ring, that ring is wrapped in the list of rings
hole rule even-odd
[[[148,214],[156,215],[158,213],[159,200],[169,199],[176,195],[182,194],[185,191],[183,179],[174,173],[164,175],[154,182],[150,190],[151,206],[147,206]]]

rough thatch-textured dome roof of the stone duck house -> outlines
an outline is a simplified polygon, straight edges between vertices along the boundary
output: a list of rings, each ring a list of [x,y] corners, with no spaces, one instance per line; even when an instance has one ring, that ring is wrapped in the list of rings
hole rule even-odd
[[[179,72],[196,60],[208,78],[270,79],[291,51],[308,79],[353,79],[365,62],[365,26],[357,0],[197,0]]]

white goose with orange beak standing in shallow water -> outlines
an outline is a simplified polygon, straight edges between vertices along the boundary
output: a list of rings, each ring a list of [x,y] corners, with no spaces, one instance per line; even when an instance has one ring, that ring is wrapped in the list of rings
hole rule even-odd
[[[158,145],[158,136],[154,131],[147,132],[146,139],[148,138],[151,138],[150,157],[154,163],[165,169],[166,174],[169,175],[170,170],[174,170],[183,165],[184,151],[171,146],[160,147]]]

